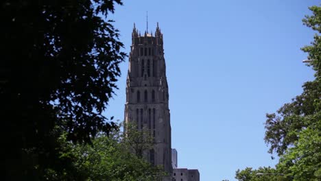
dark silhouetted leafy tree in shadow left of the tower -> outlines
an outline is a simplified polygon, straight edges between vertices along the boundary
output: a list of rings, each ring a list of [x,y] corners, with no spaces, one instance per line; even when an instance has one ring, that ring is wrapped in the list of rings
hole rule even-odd
[[[62,168],[62,131],[67,140],[91,143],[97,132],[115,127],[102,115],[126,57],[118,30],[105,21],[114,3],[121,0],[1,3],[8,179],[43,180],[46,168]]]

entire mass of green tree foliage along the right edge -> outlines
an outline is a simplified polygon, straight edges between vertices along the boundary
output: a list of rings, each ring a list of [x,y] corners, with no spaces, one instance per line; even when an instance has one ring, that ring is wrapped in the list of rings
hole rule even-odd
[[[267,114],[265,122],[265,143],[270,145],[271,154],[276,152],[280,156],[276,169],[272,170],[292,180],[321,180],[321,7],[309,9],[313,15],[305,16],[303,23],[317,33],[311,45],[302,51],[308,53],[308,65],[316,71],[316,79],[305,82],[303,93],[291,103]],[[236,178],[256,180],[253,177],[256,171],[238,170]]]

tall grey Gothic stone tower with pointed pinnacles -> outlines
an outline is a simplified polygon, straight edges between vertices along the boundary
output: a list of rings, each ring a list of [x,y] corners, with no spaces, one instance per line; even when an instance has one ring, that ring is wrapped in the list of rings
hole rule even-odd
[[[145,150],[154,165],[163,165],[172,175],[171,124],[168,86],[163,49],[163,34],[141,35],[134,25],[126,82],[125,122],[136,124],[138,130],[148,130],[154,137],[154,149]],[[169,178],[165,178],[169,180]]]

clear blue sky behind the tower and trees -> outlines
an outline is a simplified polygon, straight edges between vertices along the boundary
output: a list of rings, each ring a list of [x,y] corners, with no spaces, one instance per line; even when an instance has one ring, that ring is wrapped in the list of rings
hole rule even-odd
[[[114,19],[126,53],[133,23],[164,34],[172,147],[178,166],[202,181],[235,180],[245,167],[274,166],[263,141],[265,114],[302,93],[313,32],[302,25],[320,1],[123,1]],[[106,115],[123,120],[128,59]]]

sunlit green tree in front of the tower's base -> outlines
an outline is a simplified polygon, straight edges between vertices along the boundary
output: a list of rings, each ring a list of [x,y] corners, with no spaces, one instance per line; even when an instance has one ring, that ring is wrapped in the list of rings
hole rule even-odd
[[[82,180],[112,180],[112,181],[152,181],[165,175],[162,168],[151,165],[144,158],[139,158],[131,152],[129,145],[123,139],[122,132],[112,131],[110,136],[99,134],[93,139],[93,145],[81,145],[68,142],[71,149],[67,156],[77,158],[73,162],[75,173]],[[64,156],[66,153],[63,154]],[[75,174],[67,174],[73,176]],[[51,171],[49,180],[63,180],[59,174]]]

